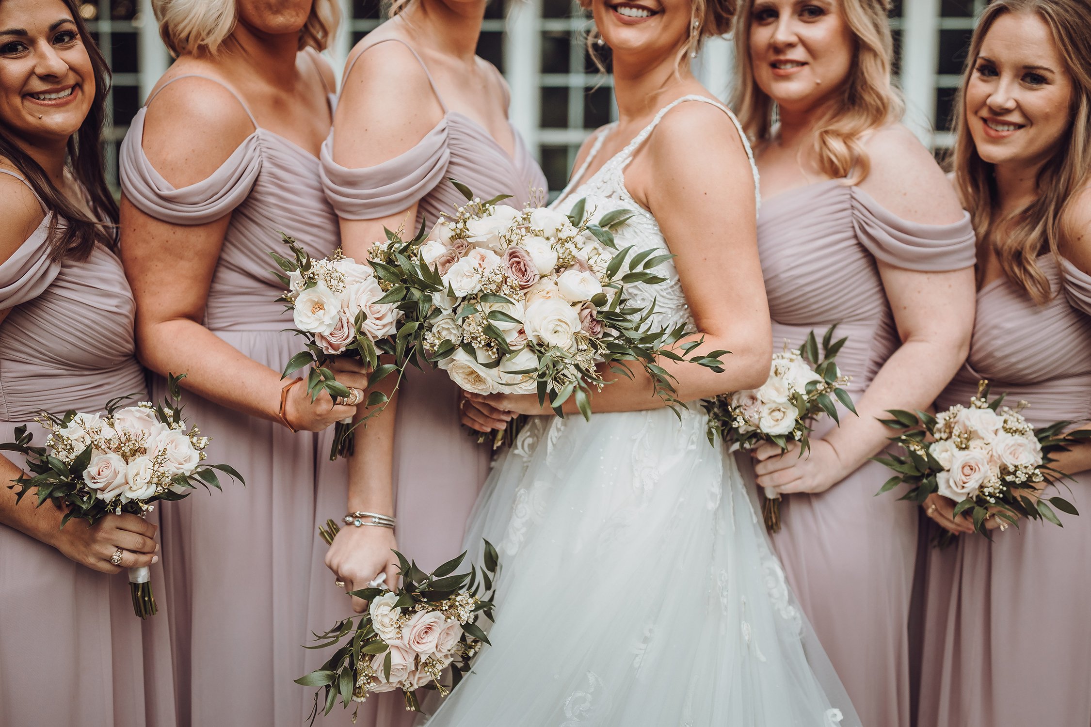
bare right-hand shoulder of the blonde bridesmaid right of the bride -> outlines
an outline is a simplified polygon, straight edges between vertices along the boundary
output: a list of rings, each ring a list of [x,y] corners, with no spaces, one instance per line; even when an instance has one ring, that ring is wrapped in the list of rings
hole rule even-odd
[[[950,182],[924,145],[900,123],[878,129],[864,140],[871,161],[860,189],[884,208],[910,222],[950,225],[962,219]]]

